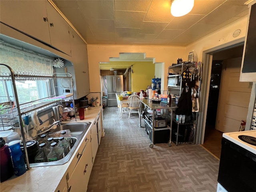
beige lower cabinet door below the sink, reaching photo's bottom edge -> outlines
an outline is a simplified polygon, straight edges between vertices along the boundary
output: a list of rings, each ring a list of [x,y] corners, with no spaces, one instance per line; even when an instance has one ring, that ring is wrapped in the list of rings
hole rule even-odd
[[[80,160],[76,164],[76,167],[68,180],[69,191],[70,192],[86,191],[91,171],[92,171],[92,149],[91,149],[91,143],[90,141],[88,141]]]

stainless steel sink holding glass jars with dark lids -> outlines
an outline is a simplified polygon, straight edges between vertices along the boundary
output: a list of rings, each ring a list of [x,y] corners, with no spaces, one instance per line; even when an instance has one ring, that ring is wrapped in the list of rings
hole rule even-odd
[[[68,154],[54,162],[42,162],[42,163],[31,163],[30,167],[40,167],[40,166],[52,166],[52,165],[62,165],[68,162],[71,156],[74,154],[74,151],[78,147],[80,141],[82,140],[84,134],[87,132],[90,127],[91,122],[83,122],[83,123],[65,123],[57,126],[54,130],[50,130],[49,132],[59,132],[62,130],[70,130],[71,139],[72,139],[72,148]]]

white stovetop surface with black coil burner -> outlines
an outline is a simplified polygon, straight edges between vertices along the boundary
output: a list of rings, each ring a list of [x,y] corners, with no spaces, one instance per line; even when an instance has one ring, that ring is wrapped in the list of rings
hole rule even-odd
[[[256,154],[256,130],[224,133],[222,136],[239,145],[240,147]],[[245,139],[248,142],[252,142],[252,144],[241,140],[238,138],[238,136],[244,136],[242,139]]]

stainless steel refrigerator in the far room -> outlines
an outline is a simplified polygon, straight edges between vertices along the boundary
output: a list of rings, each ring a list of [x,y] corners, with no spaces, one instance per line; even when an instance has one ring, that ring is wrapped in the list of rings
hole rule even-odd
[[[108,92],[108,106],[117,106],[116,94],[120,94],[123,90],[123,76],[122,75],[108,75],[107,78],[107,92]]]

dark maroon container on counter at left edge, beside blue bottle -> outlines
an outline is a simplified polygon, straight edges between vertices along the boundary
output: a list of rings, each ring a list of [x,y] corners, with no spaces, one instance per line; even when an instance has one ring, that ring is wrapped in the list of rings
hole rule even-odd
[[[14,169],[9,147],[3,138],[0,138],[0,157],[0,182],[4,182],[14,174]]]

